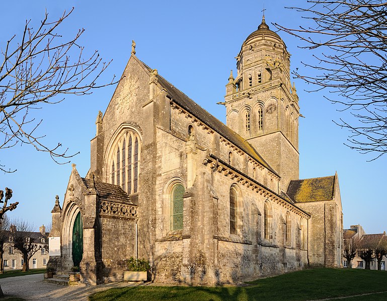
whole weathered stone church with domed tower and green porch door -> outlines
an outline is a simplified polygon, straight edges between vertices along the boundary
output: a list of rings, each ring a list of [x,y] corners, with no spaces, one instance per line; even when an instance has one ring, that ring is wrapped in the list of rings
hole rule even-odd
[[[299,99],[290,54],[265,23],[228,77],[226,124],[131,56],[52,210],[50,265],[81,281],[120,280],[130,257],[155,281],[236,283],[342,266],[337,174],[299,179]]]

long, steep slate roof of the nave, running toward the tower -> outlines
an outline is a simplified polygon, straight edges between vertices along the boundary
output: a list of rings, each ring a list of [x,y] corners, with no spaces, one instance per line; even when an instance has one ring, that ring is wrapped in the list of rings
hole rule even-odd
[[[152,71],[149,66],[147,66],[145,63],[143,64],[146,68],[148,68],[150,72]],[[275,175],[279,176],[249,142],[247,142],[239,134],[231,130],[217,118],[209,114],[206,110],[196,104],[186,94],[184,94],[182,91],[180,91],[170,82],[168,82],[164,77],[158,74],[157,78],[160,85],[162,85],[163,88],[166,89],[167,94],[173,99],[173,101],[177,105],[192,114],[194,117],[199,119],[211,129],[219,133],[223,138],[227,139],[229,142],[239,147],[241,150],[243,150],[249,156],[257,160],[261,165],[269,169]]]

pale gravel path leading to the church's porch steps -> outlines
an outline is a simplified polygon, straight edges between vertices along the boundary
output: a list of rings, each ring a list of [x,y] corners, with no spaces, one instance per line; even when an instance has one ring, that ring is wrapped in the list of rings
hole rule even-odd
[[[133,283],[128,282],[115,282],[97,286],[63,286],[44,282],[43,274],[3,278],[0,279],[0,284],[5,295],[43,301],[88,301],[88,296],[93,292],[133,285]]]

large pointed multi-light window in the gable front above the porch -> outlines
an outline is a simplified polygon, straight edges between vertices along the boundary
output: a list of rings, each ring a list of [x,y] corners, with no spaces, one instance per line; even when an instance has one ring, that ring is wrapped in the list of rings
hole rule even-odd
[[[124,128],[121,135],[115,136],[110,145],[109,165],[110,170],[105,176],[105,181],[120,186],[127,193],[138,190],[139,161],[141,153],[141,138],[137,131]]]

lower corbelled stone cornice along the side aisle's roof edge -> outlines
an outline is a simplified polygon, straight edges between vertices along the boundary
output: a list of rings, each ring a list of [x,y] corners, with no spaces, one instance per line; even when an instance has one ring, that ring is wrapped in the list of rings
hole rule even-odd
[[[216,165],[216,162],[217,165]],[[305,218],[309,219],[311,216],[305,211],[301,210],[294,204],[291,204],[288,200],[284,199],[282,196],[274,192],[273,190],[262,185],[258,181],[244,174],[243,172],[237,170],[233,166],[227,164],[223,160],[217,158],[215,155],[209,154],[203,161],[204,165],[208,165],[211,168],[216,167],[218,173],[222,173],[224,176],[229,176],[231,179],[235,179],[240,184],[250,188],[251,190],[263,195],[267,199],[270,199],[272,202],[277,203],[278,205],[286,208],[287,210]]]

